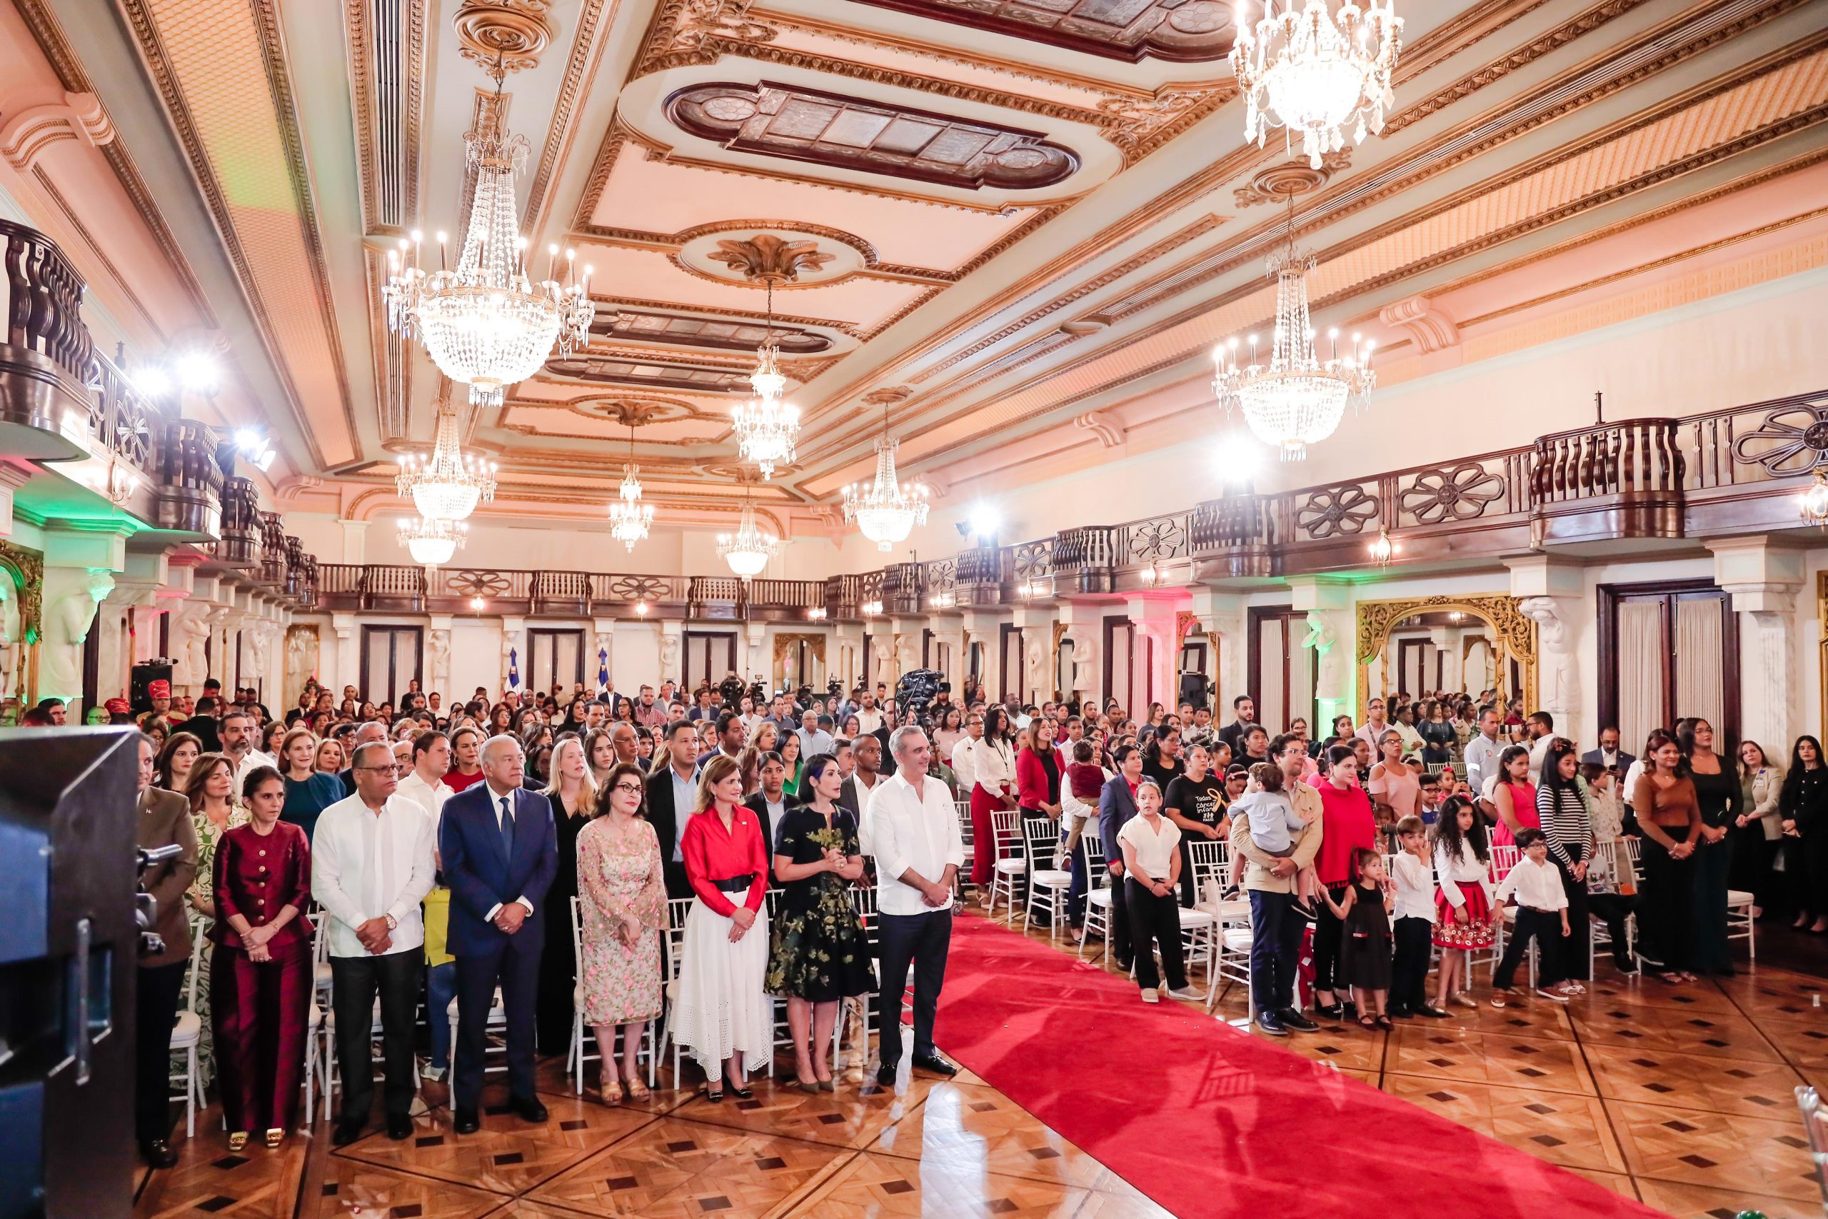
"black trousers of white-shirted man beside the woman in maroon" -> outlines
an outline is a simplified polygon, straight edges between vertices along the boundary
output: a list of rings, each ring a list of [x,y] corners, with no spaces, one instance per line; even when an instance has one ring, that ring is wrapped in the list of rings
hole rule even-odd
[[[375,994],[380,994],[380,1058],[388,1086],[382,1108],[406,1117],[413,1108],[413,1018],[419,1014],[419,974],[424,949],[386,956],[331,958],[331,1011],[336,1012],[336,1058],[342,1067],[344,1122],[364,1124],[375,1102],[375,1065],[369,1036]]]

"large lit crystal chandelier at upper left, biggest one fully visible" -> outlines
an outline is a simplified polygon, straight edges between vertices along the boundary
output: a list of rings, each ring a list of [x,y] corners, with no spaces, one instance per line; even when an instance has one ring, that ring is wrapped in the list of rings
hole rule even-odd
[[[490,69],[501,113],[503,66]],[[444,234],[437,234],[439,269],[419,265],[420,234],[400,239],[388,252],[388,285],[382,300],[388,325],[397,334],[419,338],[426,355],[446,376],[470,386],[475,406],[501,406],[503,387],[526,380],[552,355],[561,358],[587,342],[590,318],[590,269],[572,274],[572,250],[565,252],[565,281],[554,278],[558,247],[548,247],[547,278],[526,276],[526,239],[515,214],[514,179],[526,166],[526,137],[506,130],[464,135],[475,196],[457,267],[446,265]],[[408,256],[411,258],[408,265]]]

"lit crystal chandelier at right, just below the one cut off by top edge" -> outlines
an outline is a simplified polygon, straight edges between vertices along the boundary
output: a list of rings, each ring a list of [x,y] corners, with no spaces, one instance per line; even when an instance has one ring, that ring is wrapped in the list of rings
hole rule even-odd
[[[1373,342],[1353,336],[1353,353],[1334,351],[1327,360],[1314,353],[1314,329],[1307,318],[1307,272],[1314,256],[1294,249],[1294,197],[1289,197],[1289,247],[1269,260],[1276,278],[1276,336],[1269,364],[1258,364],[1256,334],[1250,336],[1250,364],[1238,366],[1238,340],[1214,349],[1217,375],[1212,393],[1225,409],[1241,406],[1245,422],[1265,444],[1276,446],[1283,461],[1302,461],[1307,446],[1325,440],[1340,426],[1347,402],[1362,406],[1376,386],[1371,371]],[[1329,334],[1336,340],[1338,331]]]

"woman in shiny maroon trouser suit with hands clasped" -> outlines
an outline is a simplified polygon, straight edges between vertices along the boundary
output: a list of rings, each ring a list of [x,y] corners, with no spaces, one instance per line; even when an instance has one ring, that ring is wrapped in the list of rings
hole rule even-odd
[[[298,1117],[311,1020],[311,846],[280,821],[285,780],[271,766],[241,788],[249,821],[216,846],[210,1014],[228,1150],[267,1129],[276,1148]]]

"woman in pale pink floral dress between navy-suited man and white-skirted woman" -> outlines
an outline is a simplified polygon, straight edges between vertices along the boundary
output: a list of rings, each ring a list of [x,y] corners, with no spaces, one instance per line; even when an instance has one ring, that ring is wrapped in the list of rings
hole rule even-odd
[[[611,768],[598,788],[596,819],[578,832],[578,896],[583,939],[578,976],[583,1020],[596,1029],[603,1100],[647,1100],[634,1055],[642,1029],[660,1014],[660,932],[667,885],[660,837],[642,817],[645,784],[636,766]],[[622,1027],[622,1093],[616,1089],[616,1027]]]

